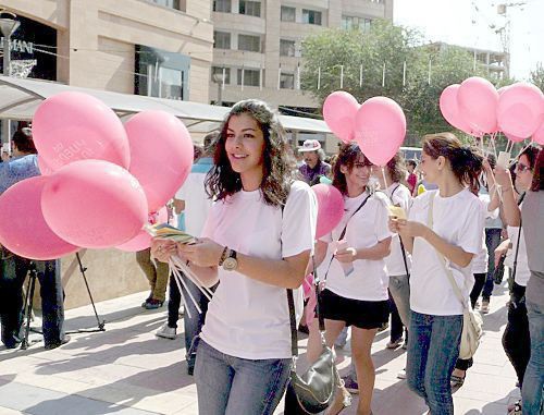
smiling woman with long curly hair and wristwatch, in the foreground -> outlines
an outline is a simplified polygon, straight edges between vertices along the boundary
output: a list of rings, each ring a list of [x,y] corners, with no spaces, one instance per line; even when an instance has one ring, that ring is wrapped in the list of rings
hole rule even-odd
[[[202,415],[272,414],[292,365],[286,289],[302,309],[300,284],[312,251],[317,203],[294,169],[277,115],[262,101],[236,103],[221,127],[207,180],[214,197],[195,245],[156,241],[207,284],[220,281],[197,351]],[[165,253],[165,254],[164,254]]]

